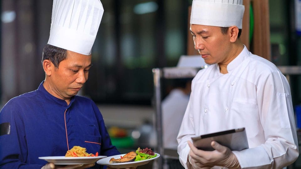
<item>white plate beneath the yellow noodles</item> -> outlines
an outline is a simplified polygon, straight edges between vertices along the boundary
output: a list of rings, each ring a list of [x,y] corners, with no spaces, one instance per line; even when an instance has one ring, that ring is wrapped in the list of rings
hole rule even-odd
[[[52,162],[56,165],[74,165],[74,164],[93,164],[97,160],[105,157],[107,156],[96,156],[96,157],[48,156],[48,157],[39,157],[39,159]]]

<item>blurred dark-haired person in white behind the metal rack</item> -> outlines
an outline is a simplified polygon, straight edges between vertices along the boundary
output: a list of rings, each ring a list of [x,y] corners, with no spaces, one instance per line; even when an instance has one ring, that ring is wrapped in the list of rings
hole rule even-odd
[[[192,79],[174,79],[173,89],[162,100],[163,147],[177,150],[177,135],[189,101]],[[179,160],[167,159],[170,169],[183,168]]]

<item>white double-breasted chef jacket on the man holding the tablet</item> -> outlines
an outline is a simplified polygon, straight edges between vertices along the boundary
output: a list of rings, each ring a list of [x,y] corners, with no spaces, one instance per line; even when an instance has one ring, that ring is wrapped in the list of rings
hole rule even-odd
[[[246,128],[249,149],[232,151],[241,168],[282,168],[298,158],[292,97],[287,79],[246,48],[221,74],[213,64],[198,72],[177,136],[187,169],[192,136]],[[214,168],[219,168],[215,166]]]

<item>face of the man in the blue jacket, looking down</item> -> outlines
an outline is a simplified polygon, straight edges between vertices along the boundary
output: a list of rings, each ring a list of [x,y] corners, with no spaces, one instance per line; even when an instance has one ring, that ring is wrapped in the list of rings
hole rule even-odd
[[[83,55],[67,50],[67,58],[50,75],[51,94],[60,99],[76,95],[88,79],[91,55]]]

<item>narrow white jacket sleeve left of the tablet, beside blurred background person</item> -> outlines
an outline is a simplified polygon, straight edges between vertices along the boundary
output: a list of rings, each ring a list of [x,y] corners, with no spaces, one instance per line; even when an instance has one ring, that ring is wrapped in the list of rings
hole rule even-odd
[[[189,161],[187,161],[188,158],[188,153],[190,151],[190,147],[187,144],[187,141],[191,141],[191,137],[195,136],[195,131],[194,131],[194,123],[193,123],[193,86],[194,86],[194,81],[192,82],[192,89],[191,89],[191,94],[189,98],[189,102],[182,120],[182,124],[177,136],[177,141],[178,141],[178,154],[179,154],[179,160],[184,166],[185,169],[189,168]],[[188,166],[187,166],[188,163]]]

